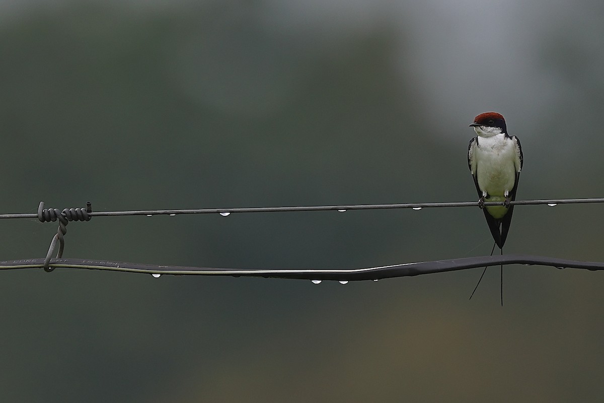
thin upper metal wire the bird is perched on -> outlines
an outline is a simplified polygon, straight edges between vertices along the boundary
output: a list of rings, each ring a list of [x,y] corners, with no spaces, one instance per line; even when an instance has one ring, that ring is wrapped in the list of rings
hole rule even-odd
[[[539,199],[517,200],[510,205],[538,205],[538,204],[584,204],[604,203],[604,198],[588,199]],[[503,205],[503,202],[485,202],[484,205]],[[126,211],[94,211],[89,212],[90,217],[102,216],[156,216],[176,214],[212,214],[221,213],[271,213],[277,211],[344,211],[344,210],[383,210],[392,208],[435,208],[435,207],[477,207],[478,202],[444,202],[444,203],[400,203],[400,204],[351,204],[351,205],[315,205],[297,207],[243,207],[243,208],[190,208],[178,210],[126,210]],[[0,219],[10,218],[39,218],[37,213],[0,214]]]

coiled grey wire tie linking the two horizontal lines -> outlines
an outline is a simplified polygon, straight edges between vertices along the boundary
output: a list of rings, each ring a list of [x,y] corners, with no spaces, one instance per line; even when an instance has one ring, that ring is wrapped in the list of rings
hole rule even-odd
[[[44,259],[44,271],[51,272],[54,269],[50,267],[50,259],[56,250],[57,241],[59,241],[59,251],[57,251],[56,259],[63,256],[63,250],[65,249],[65,239],[63,236],[67,233],[67,224],[69,221],[90,221],[92,216],[89,213],[92,213],[91,202],[86,203],[86,208],[63,208],[62,211],[58,208],[44,208],[44,202],[40,202],[38,205],[38,219],[40,222],[59,220],[59,228],[50,242],[46,259]]]

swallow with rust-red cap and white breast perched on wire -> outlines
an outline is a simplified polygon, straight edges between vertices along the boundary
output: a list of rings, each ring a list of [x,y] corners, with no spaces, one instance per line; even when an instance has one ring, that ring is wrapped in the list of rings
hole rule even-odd
[[[478,115],[470,127],[474,128],[477,136],[470,140],[467,147],[467,166],[478,192],[478,207],[483,210],[484,218],[495,240],[491,254],[495,250],[495,245],[503,254],[503,245],[506,243],[514,211],[514,206],[510,202],[516,199],[518,180],[524,163],[522,147],[518,137],[507,133],[506,120],[498,112],[484,112]],[[502,204],[486,206],[484,202]],[[484,269],[486,271],[486,268]],[[501,280],[501,305],[503,306],[503,266],[501,266]]]

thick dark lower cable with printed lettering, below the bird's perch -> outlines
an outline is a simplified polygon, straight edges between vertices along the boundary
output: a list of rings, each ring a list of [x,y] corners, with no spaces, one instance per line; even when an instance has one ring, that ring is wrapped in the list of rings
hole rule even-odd
[[[19,259],[0,261],[0,270],[42,268],[45,259]],[[193,266],[160,266],[142,263],[110,262],[108,260],[89,259],[51,259],[51,268],[78,268],[105,271],[121,271],[152,274],[159,277],[162,274],[173,276],[234,276],[234,277],[264,277],[277,279],[301,279],[320,282],[335,280],[339,282],[360,280],[381,280],[393,277],[419,276],[421,274],[439,273],[472,269],[484,266],[498,265],[540,265],[552,266],[559,269],[575,268],[588,270],[604,270],[604,262],[582,262],[580,260],[556,259],[544,256],[503,255],[477,256],[462,259],[432,260],[430,262],[402,263],[400,265],[379,266],[363,269],[234,269],[207,268]]]

